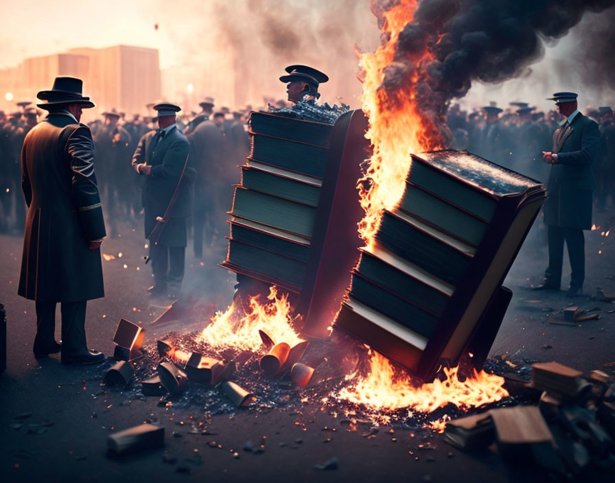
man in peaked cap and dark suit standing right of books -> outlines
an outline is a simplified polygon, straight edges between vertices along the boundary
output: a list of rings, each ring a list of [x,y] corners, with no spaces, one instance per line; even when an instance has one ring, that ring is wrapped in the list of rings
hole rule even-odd
[[[535,290],[559,290],[564,242],[570,257],[570,288],[567,296],[582,293],[585,279],[585,239],[583,230],[592,228],[592,191],[596,184],[592,163],[600,132],[598,124],[577,108],[577,94],[558,92],[548,100],[556,103],[564,121],[553,134],[553,150],[542,152],[551,165],[544,204],[549,264],[544,282]]]

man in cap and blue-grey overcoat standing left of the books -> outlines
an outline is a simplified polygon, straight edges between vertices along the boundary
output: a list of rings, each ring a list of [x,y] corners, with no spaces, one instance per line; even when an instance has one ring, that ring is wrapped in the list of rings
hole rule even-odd
[[[177,129],[174,104],[156,104],[159,130],[139,142],[132,167],[146,176],[143,188],[145,235],[150,240],[154,273],[152,295],[175,298],[181,289],[187,244],[186,218],[190,215],[189,181],[194,169],[186,167],[188,140]],[[146,152],[143,157],[143,151]]]

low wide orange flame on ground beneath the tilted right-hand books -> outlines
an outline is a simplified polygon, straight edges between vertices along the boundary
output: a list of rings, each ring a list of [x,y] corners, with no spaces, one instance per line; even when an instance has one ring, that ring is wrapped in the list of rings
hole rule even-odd
[[[413,387],[408,375],[395,371],[384,355],[371,351],[369,374],[351,375],[350,386],[340,390],[339,399],[361,404],[374,410],[408,408],[419,412],[433,412],[452,403],[457,408],[469,408],[500,401],[509,394],[502,385],[504,378],[474,372],[474,377],[461,381],[458,368],[445,368],[446,379]]]

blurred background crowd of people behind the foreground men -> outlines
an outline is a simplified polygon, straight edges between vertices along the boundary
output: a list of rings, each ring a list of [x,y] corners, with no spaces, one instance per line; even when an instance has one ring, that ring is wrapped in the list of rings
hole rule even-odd
[[[43,115],[28,102],[17,104],[18,108],[8,115],[0,111],[0,233],[23,232],[26,207],[21,193],[21,145]],[[542,161],[541,152],[553,145],[553,132],[561,123],[557,111],[543,113],[524,102],[511,102],[504,109],[491,104],[472,112],[462,110],[459,104],[451,106],[447,116],[451,147],[546,182],[549,165]],[[152,105],[147,107],[151,109]],[[288,109],[288,104],[280,100],[275,107]],[[192,163],[198,173],[192,217],[196,257],[202,256],[203,244],[224,236],[224,216],[231,207],[232,185],[237,182],[236,167],[249,151],[246,122],[252,110],[251,106],[217,108],[211,97],[206,97],[200,108],[199,113],[183,112],[177,117],[178,129],[191,143]],[[615,115],[607,106],[587,108],[585,113],[599,123],[601,130],[593,165],[597,183],[594,206],[605,211],[615,202]],[[139,224],[142,180],[130,163],[141,137],[156,129],[156,117],[127,116],[114,109],[90,121],[89,126],[106,222],[109,234],[116,237],[118,222]]]

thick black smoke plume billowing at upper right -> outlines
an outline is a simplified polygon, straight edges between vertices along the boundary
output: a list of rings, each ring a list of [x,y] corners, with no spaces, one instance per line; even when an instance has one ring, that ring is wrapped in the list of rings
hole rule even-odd
[[[381,24],[383,13],[398,3],[372,3]],[[419,107],[444,137],[443,119],[450,101],[463,97],[473,81],[502,82],[521,75],[542,58],[545,43],[565,36],[585,12],[613,5],[615,0],[419,1],[414,20],[399,34],[395,62],[386,70],[382,88],[396,91],[418,76]],[[612,36],[593,38],[592,45],[602,45],[608,38]],[[612,44],[603,47],[596,51]],[[426,51],[432,56],[421,61]]]

